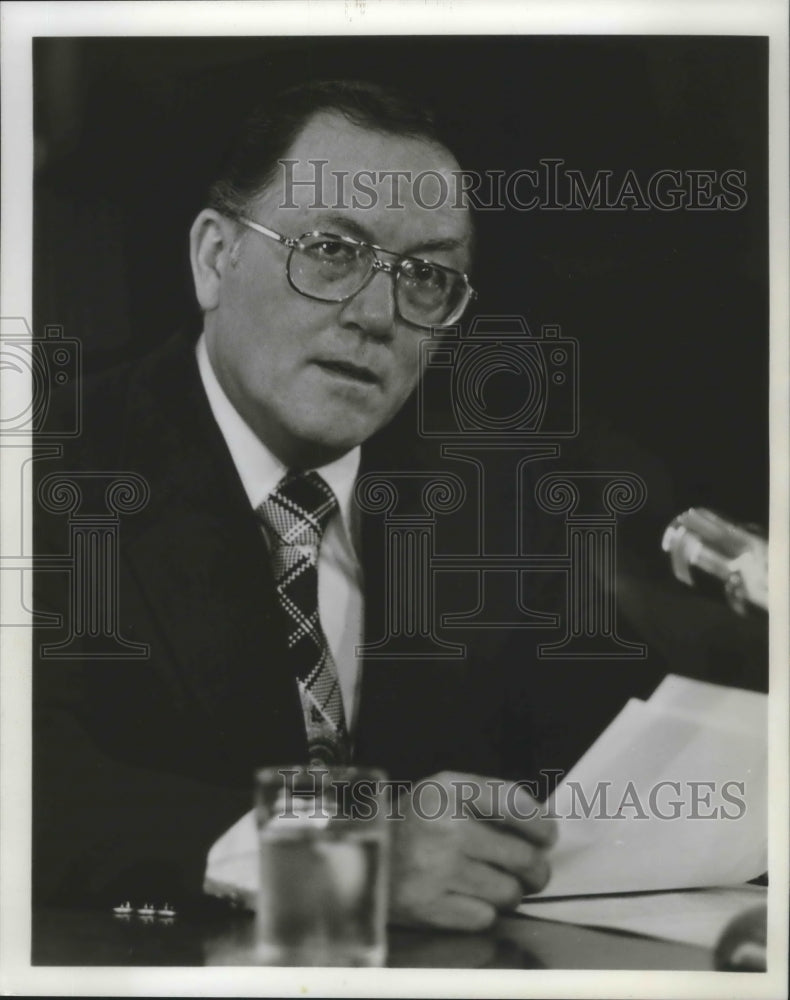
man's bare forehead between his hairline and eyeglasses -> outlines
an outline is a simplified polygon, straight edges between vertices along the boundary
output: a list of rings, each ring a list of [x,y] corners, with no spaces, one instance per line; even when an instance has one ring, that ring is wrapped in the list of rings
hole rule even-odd
[[[472,223],[460,167],[427,139],[354,125],[344,115],[311,118],[260,199],[280,225],[343,228],[392,249],[468,250]],[[270,216],[273,219],[273,216]],[[298,235],[298,234],[296,234]]]

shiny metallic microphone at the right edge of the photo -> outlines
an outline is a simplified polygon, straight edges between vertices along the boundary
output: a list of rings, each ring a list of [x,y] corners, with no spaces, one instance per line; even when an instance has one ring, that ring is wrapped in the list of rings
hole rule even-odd
[[[661,548],[677,579],[688,586],[713,578],[739,615],[768,610],[768,541],[755,525],[691,507],[668,525]]]

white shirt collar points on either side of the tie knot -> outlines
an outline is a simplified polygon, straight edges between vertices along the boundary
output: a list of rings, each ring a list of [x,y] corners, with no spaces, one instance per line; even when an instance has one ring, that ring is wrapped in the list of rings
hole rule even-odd
[[[274,490],[288,471],[272,454],[228,399],[209,360],[205,334],[196,348],[198,369],[211,412],[219,425],[242,485],[255,508]],[[324,479],[337,499],[340,515],[349,537],[353,537],[352,499],[354,481],[359,471],[360,448],[352,448],[334,462],[315,471]]]

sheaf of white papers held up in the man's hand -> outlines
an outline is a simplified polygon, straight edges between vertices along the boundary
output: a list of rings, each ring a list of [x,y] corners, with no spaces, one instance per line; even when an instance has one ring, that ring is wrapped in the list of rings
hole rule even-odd
[[[556,898],[737,886],[762,874],[766,721],[765,695],[675,675],[647,702],[629,701],[550,798],[560,831],[552,878],[520,912],[638,931],[637,916],[653,914],[649,925],[662,897],[632,900],[630,923],[624,900]],[[665,909],[683,905],[673,896]],[[693,905],[726,909],[736,896],[697,893]]]

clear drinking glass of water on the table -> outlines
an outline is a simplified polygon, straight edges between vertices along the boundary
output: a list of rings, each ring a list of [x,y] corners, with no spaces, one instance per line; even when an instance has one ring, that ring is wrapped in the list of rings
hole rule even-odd
[[[371,768],[257,773],[257,962],[384,965],[387,801],[385,775]]]

